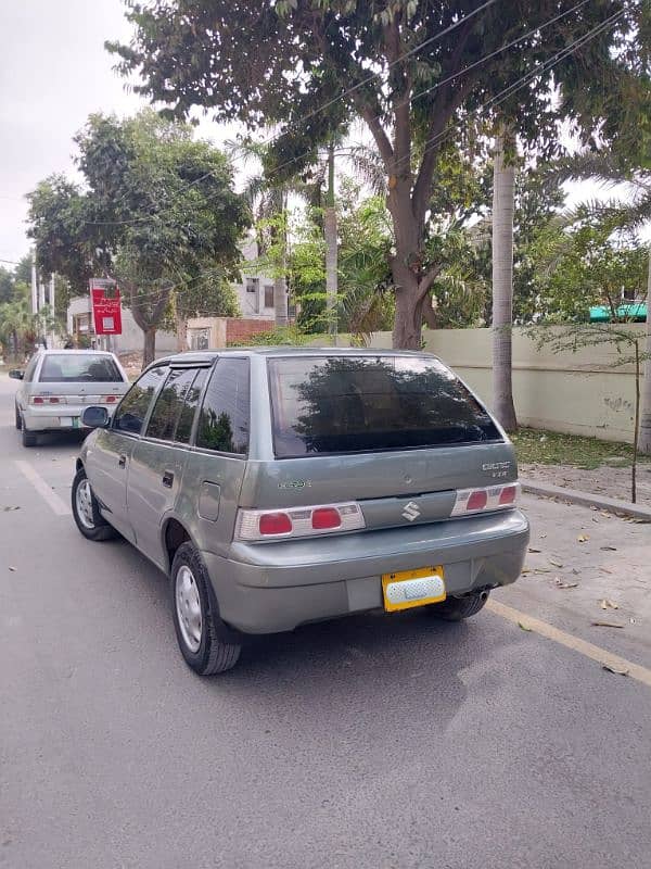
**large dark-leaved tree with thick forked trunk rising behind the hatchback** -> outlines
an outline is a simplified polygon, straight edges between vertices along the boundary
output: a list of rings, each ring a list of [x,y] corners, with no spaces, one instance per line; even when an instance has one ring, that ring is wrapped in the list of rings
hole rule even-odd
[[[603,118],[608,138],[639,55],[642,9],[610,0],[150,0],[129,7],[131,43],[108,48],[120,72],[139,76],[135,89],[176,116],[200,105],[250,128],[278,124],[278,176],[314,162],[343,122],[361,117],[381,154],[394,226],[394,345],[418,348],[441,270],[424,240],[447,137],[511,95],[513,135],[544,151],[558,147],[559,113],[584,141]],[[590,67],[600,74],[586,84]]]

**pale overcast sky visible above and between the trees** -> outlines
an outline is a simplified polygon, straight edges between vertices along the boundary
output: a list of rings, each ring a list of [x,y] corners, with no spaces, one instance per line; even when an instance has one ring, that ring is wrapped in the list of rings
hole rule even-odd
[[[51,173],[74,173],[72,139],[88,115],[145,104],[104,49],[129,36],[120,0],[0,0],[0,261],[28,253],[24,196]],[[199,128],[216,143],[234,133],[209,121]],[[584,184],[572,199],[595,192]]]

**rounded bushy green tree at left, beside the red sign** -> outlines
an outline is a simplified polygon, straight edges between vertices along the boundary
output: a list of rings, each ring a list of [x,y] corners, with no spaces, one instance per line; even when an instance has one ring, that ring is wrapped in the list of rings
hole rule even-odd
[[[143,331],[146,365],[177,285],[181,298],[208,267],[237,276],[250,212],[227,158],[187,125],[151,111],[97,114],[75,141],[86,189],[56,176],[30,196],[39,264],[78,288],[93,272],[115,277]]]

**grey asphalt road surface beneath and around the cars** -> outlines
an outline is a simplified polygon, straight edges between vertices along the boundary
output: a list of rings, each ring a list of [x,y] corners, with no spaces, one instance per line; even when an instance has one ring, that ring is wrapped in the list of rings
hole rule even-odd
[[[651,867],[651,688],[486,610],[311,626],[202,680],[165,578],[66,515],[78,442],[24,450],[12,414],[0,376],[0,867]],[[525,507],[630,629],[546,567],[495,600],[649,667],[649,527]],[[622,578],[588,526],[628,542]]]

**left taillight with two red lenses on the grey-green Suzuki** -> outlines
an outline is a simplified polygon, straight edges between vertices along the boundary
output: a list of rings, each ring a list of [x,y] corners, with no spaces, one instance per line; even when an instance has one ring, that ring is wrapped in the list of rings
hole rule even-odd
[[[270,540],[314,537],[365,527],[359,504],[319,504],[289,509],[240,509],[235,522],[238,540]]]

